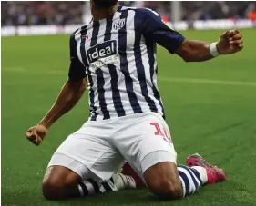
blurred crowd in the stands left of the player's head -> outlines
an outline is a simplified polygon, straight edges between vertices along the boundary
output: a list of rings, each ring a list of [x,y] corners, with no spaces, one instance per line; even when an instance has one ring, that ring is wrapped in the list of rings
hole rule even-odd
[[[82,24],[86,2],[1,2],[1,23],[6,25]]]

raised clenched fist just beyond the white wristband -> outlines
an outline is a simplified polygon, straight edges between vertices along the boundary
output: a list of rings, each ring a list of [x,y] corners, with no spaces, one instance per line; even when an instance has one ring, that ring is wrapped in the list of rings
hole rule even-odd
[[[220,54],[234,54],[243,48],[242,35],[237,29],[227,31],[220,35],[217,50]]]

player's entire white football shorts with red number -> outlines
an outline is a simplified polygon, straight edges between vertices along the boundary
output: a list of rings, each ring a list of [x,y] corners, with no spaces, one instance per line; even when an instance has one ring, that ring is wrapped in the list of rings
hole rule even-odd
[[[87,121],[59,146],[48,167],[60,165],[82,179],[108,181],[124,160],[142,177],[156,163],[176,163],[176,159],[163,118],[158,113],[138,113]]]

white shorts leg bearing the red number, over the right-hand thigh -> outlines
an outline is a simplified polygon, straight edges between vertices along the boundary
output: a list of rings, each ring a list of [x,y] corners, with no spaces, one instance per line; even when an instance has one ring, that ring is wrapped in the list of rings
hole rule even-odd
[[[127,122],[127,129],[118,135],[117,147],[141,177],[159,162],[176,164],[169,127],[159,114],[137,115]]]

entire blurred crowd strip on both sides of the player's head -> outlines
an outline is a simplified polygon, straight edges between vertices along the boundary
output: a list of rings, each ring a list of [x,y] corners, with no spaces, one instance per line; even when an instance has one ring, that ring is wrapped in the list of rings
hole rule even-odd
[[[211,19],[256,20],[256,2],[120,2],[127,6],[146,6],[169,21]],[[89,2],[1,2],[1,23],[7,25],[84,24],[90,18]]]

